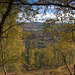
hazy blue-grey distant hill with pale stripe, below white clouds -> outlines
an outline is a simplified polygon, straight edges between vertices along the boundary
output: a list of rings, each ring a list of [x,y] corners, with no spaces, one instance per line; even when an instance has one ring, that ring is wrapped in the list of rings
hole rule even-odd
[[[41,22],[32,22],[32,23],[25,23],[22,25],[23,31],[27,32],[42,32],[43,23]]]

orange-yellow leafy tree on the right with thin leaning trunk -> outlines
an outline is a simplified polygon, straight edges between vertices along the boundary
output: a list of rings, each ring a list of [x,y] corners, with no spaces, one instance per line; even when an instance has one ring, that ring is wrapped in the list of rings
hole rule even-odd
[[[68,24],[68,23],[61,23],[56,24],[55,21],[52,23],[49,23],[50,20],[47,20],[44,27],[44,32],[48,32],[51,35],[54,36],[56,39],[56,42],[60,43],[59,46],[58,43],[54,44],[56,47],[56,50],[62,55],[64,59],[64,63],[66,67],[68,68],[68,71],[70,75],[72,75],[71,71],[69,70],[69,67],[67,65],[67,54],[71,53],[71,50],[74,48],[73,41],[74,41],[74,33],[72,33],[72,28],[74,28],[74,24]],[[46,29],[47,28],[47,29]],[[71,48],[73,46],[73,48]],[[53,47],[54,48],[54,47]],[[54,48],[55,49],[55,48]],[[71,58],[71,57],[70,57]]]

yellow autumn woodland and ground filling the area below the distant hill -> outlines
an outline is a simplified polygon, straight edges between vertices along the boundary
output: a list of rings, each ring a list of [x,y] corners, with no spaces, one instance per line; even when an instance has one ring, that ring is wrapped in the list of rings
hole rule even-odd
[[[4,49],[7,53],[5,54],[4,64],[8,75],[69,75],[70,72],[74,74],[75,46],[73,42],[68,42],[68,40],[72,40],[72,36],[71,38],[66,37],[67,35],[61,31],[59,33],[59,30],[56,34],[48,31],[44,35],[40,31],[36,33],[24,31],[21,34],[22,28],[14,27],[14,30],[16,29],[19,33],[13,34],[13,36],[16,35],[14,39],[4,38],[8,43],[4,43],[3,40],[5,44],[3,47],[7,46]],[[10,31],[13,33],[12,30]],[[14,42],[11,43],[13,40]],[[11,49],[11,51],[8,51],[8,49]],[[8,56],[10,57],[7,58]],[[2,67],[0,70],[3,72]]]

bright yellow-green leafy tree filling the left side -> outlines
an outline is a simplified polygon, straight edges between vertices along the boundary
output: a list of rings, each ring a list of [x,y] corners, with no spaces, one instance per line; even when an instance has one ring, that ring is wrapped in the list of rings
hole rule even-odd
[[[4,55],[4,59],[2,59],[0,64],[4,63],[7,68],[7,72],[9,72],[10,70],[9,67],[15,64],[13,67],[11,67],[10,71],[12,71],[13,68],[16,71],[17,67],[15,66],[17,65],[18,61],[21,61],[21,53],[24,50],[24,44],[22,41],[22,29],[20,26],[15,26],[11,30],[8,30],[5,34],[3,34],[3,36],[7,37],[2,39],[4,51],[4,53],[2,54]]]

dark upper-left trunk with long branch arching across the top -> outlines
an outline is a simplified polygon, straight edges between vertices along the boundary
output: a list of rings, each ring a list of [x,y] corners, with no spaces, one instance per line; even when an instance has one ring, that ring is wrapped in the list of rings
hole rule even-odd
[[[43,4],[41,4],[41,2],[43,2]],[[56,2],[56,3],[54,3],[54,2]],[[66,7],[66,8],[75,9],[75,7],[72,6],[72,4],[71,4],[72,2],[74,2],[74,0],[69,0],[69,1],[68,0],[64,0],[64,1],[62,1],[62,0],[60,0],[60,1],[52,0],[51,2],[43,0],[43,1],[33,2],[33,4],[29,4],[27,0],[25,0],[25,1],[24,0],[23,1],[22,0],[17,0],[17,1],[14,1],[14,0],[10,0],[10,1],[9,0],[4,0],[4,1],[1,1],[0,2],[1,4],[8,4],[8,7],[7,7],[6,12],[2,16],[2,20],[1,20],[1,24],[0,24],[0,36],[3,33],[2,32],[3,24],[5,22],[5,19],[9,15],[9,12],[11,11],[12,5],[21,5],[21,4],[22,5],[56,5],[56,6],[60,6],[60,7]],[[39,4],[37,4],[37,3],[39,3]],[[45,4],[45,3],[47,3],[47,4]],[[62,3],[63,3],[63,5],[62,5]]]

